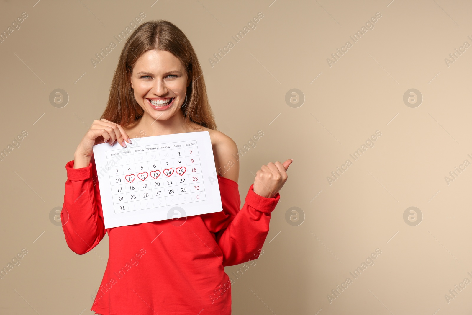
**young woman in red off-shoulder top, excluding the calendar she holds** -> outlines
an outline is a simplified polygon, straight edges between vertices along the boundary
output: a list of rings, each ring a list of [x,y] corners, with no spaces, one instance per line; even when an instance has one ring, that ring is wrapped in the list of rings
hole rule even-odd
[[[93,145],[209,131],[223,211],[105,229]],[[235,142],[216,130],[202,69],[185,34],[165,20],[126,41],[107,107],[67,162],[61,212],[67,245],[82,255],[108,232],[110,255],[91,310],[102,315],[231,314],[224,266],[257,259],[292,160],[262,165],[244,206]],[[181,221],[180,221],[181,222]],[[263,253],[263,252],[262,252]]]

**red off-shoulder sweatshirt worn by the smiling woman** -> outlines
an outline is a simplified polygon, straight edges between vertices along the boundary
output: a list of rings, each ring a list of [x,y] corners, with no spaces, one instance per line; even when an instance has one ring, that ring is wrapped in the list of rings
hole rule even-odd
[[[110,255],[92,309],[102,315],[230,315],[224,266],[257,259],[280,194],[253,185],[240,210],[238,184],[218,176],[223,211],[105,229],[95,161],[67,162],[61,212],[67,245],[82,255],[108,232]],[[201,312],[201,313],[200,313]]]

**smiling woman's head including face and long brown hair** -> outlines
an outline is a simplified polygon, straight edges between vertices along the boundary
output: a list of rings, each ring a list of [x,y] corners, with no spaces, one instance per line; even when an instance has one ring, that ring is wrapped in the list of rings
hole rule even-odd
[[[168,121],[169,125],[182,125],[185,120],[193,129],[199,129],[197,124],[216,129],[192,44],[177,26],[150,22],[139,26],[125,43],[101,119],[129,126],[133,131],[155,120]],[[138,56],[136,50],[143,53]],[[151,102],[169,98],[175,99],[162,109]],[[130,102],[132,106],[128,106]]]

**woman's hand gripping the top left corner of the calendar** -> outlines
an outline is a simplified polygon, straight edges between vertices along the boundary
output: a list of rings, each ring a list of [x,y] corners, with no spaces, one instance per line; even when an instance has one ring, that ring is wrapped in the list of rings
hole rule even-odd
[[[126,143],[131,143],[128,134],[125,129],[114,122],[107,119],[93,120],[92,127],[85,134],[77,146],[76,152],[74,153],[74,168],[87,167],[90,165],[93,155],[93,145],[98,145],[109,141],[110,145],[113,145],[115,140],[118,143],[126,147]]]

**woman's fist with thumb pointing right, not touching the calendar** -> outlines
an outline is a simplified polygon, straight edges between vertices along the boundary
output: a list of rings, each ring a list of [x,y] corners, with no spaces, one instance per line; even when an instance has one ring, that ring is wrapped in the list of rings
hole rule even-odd
[[[272,198],[277,195],[287,181],[286,170],[292,162],[293,160],[288,159],[283,164],[270,162],[267,165],[262,165],[254,178],[254,192],[262,197]]]

